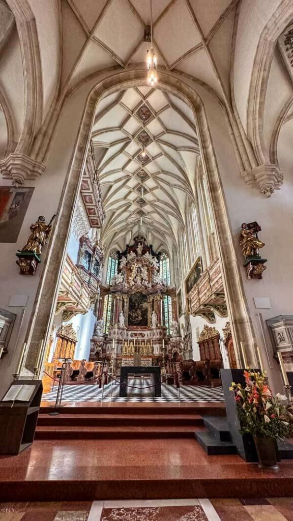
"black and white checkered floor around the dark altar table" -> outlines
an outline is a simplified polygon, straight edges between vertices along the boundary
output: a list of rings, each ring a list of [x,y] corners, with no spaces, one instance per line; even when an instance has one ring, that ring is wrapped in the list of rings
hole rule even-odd
[[[175,386],[162,383],[161,398],[153,398],[153,389],[148,389],[151,380],[129,379],[128,397],[119,398],[119,384],[113,382],[112,401],[113,402],[178,402],[178,389]],[[104,386],[103,401],[111,401],[111,383]],[[56,400],[57,386],[54,390],[43,394],[43,400],[53,402]],[[101,402],[102,389],[96,384],[77,384],[65,385],[63,389],[62,401],[70,402]],[[221,387],[204,386],[182,386],[180,387],[180,402],[224,402],[224,395]]]

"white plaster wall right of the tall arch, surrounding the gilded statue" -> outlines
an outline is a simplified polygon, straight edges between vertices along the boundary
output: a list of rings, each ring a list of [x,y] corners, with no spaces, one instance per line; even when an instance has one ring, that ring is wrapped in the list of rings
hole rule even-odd
[[[268,364],[257,314],[261,313],[265,320],[279,314],[293,313],[293,234],[291,232],[293,226],[291,205],[293,165],[290,152],[293,134],[291,132],[290,135],[282,135],[282,133],[280,135],[278,158],[280,165],[282,165],[285,181],[282,189],[276,191],[270,199],[267,199],[260,194],[258,189],[252,189],[241,179],[221,109],[213,102],[206,108],[249,312],[257,342],[263,352],[264,366],[268,370],[272,385],[280,389],[282,383],[277,369],[278,366],[273,359],[271,359],[270,365]],[[267,269],[264,271],[262,280],[247,279],[245,268],[242,267],[243,256],[239,246],[241,223],[254,220],[258,221],[262,227],[260,239],[265,242],[265,247],[261,254],[268,259]],[[268,297],[271,299],[272,307],[270,309],[256,309],[253,301],[254,296]],[[272,354],[272,346],[268,338],[266,338],[266,343],[268,352]]]

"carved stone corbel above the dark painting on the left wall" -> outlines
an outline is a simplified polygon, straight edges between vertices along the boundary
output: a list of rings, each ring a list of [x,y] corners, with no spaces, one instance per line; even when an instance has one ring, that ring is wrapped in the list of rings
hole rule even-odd
[[[12,179],[14,187],[25,183],[25,180],[38,179],[46,166],[25,154],[9,154],[0,161],[0,170],[4,179]]]

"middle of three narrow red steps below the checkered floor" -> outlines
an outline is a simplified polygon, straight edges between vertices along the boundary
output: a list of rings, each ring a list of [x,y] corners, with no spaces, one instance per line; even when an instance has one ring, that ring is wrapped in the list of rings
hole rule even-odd
[[[59,414],[57,416],[50,416],[49,414],[42,414],[38,418],[38,426],[50,426],[50,427],[58,427],[58,426],[68,426],[68,427],[77,427],[77,426],[111,426],[111,425],[120,425],[120,426],[145,426],[145,425],[157,425],[157,426],[170,426],[170,425],[190,425],[197,426],[203,425],[202,416],[198,414],[192,415],[128,415],[128,414],[112,414],[112,415],[79,415],[79,414]]]

